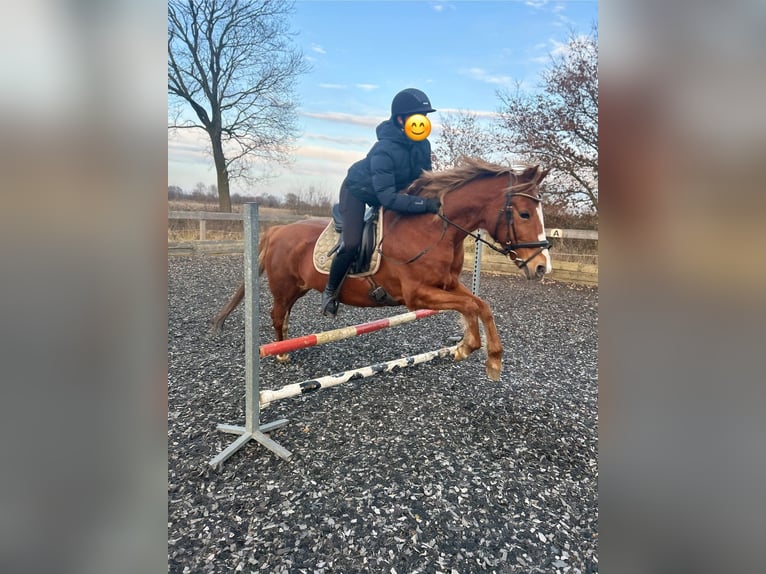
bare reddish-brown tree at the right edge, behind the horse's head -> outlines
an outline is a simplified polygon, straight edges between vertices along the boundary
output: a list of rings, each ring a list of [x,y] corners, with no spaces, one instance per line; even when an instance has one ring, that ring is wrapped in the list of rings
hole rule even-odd
[[[541,91],[499,93],[501,146],[553,168],[546,191],[598,212],[598,32],[570,36],[551,56]]]

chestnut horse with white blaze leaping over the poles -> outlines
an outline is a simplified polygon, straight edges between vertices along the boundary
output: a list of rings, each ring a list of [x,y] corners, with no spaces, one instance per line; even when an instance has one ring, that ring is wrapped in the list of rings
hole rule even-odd
[[[527,279],[542,279],[551,271],[551,262],[538,186],[548,171],[531,166],[516,172],[464,158],[453,169],[423,172],[406,193],[438,197],[442,203],[440,213],[403,215],[384,211],[383,239],[377,246],[380,266],[372,276],[348,277],[340,290],[341,303],[356,307],[398,304],[410,311],[457,311],[463,317],[464,332],[454,355],[456,361],[481,347],[481,319],[487,339],[487,376],[499,380],[503,347],[492,311],[460,283],[463,241],[471,232],[484,229],[500,247],[484,243],[507,255]],[[287,337],[288,318],[295,302],[311,289],[321,292],[325,287],[327,276],[314,268],[312,252],[326,226],[326,219],[309,219],[271,227],[261,236],[258,271],[265,270],[268,277],[274,299],[271,319],[278,341]],[[371,289],[378,286],[389,295],[388,302],[370,295]],[[213,318],[213,331],[223,327],[243,296],[241,285]],[[287,356],[278,359],[286,360]]]

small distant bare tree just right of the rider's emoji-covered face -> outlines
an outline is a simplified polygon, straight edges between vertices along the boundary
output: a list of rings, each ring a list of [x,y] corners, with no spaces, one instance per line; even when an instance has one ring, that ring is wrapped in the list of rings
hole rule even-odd
[[[495,149],[489,130],[469,111],[441,114],[441,131],[435,138],[434,170],[452,167],[461,156],[488,159]]]

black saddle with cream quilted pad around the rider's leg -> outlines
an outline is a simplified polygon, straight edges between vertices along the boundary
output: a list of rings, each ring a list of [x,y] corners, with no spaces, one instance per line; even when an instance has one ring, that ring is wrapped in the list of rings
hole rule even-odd
[[[349,268],[349,275],[352,277],[373,275],[380,266],[380,254],[376,251],[376,246],[383,235],[383,226],[378,225],[378,221],[382,221],[382,211],[382,207],[368,207],[364,213],[362,244],[359,254]],[[332,258],[342,245],[342,231],[343,219],[340,206],[336,203],[332,207],[332,220],[314,246],[314,267],[320,273],[330,272]]]

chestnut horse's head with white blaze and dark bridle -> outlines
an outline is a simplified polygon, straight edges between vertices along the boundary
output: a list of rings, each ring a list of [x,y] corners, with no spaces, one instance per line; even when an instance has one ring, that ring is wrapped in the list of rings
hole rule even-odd
[[[542,279],[551,272],[550,243],[545,237],[542,198],[538,186],[550,170],[540,166],[511,174],[511,185],[505,193],[494,237],[503,245],[527,279]]]

